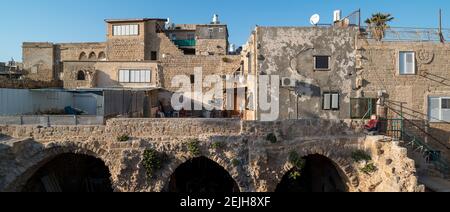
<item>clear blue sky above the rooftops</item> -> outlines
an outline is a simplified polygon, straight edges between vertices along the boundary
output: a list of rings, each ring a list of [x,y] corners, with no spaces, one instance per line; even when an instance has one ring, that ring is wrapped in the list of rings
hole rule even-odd
[[[309,26],[314,13],[321,15],[321,23],[330,23],[335,9],[345,15],[358,8],[363,20],[374,12],[388,12],[396,18],[392,26],[406,27],[437,27],[442,8],[444,27],[450,28],[448,0],[14,0],[1,5],[0,61],[21,61],[24,41],[104,41],[107,18],[207,23],[217,13],[229,25],[230,42],[239,46],[255,25]]]

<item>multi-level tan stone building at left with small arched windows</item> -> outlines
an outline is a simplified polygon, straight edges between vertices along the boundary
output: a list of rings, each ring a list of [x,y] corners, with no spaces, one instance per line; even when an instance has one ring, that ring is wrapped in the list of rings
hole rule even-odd
[[[61,80],[65,89],[158,89],[160,103],[154,106],[167,112],[178,89],[171,85],[175,75],[192,78],[194,68],[202,67],[204,75],[222,76],[240,67],[240,56],[228,55],[227,25],[218,20],[179,25],[153,18],[105,21],[105,42],[24,43],[27,78]]]

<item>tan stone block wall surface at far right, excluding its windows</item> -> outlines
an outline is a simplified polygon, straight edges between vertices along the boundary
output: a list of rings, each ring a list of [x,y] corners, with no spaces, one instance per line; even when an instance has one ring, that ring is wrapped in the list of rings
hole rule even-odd
[[[358,40],[358,76],[364,79],[359,90],[364,97],[376,98],[385,91],[390,117],[398,117],[403,103],[403,115],[408,132],[428,140],[436,149],[449,155],[450,123],[430,123],[428,97],[450,96],[450,45],[430,42],[374,42]],[[398,54],[415,52],[416,74],[400,75]],[[396,113],[392,113],[396,111]],[[398,114],[397,114],[398,113]],[[428,130],[431,136],[423,131]],[[450,158],[450,155],[448,156]]]

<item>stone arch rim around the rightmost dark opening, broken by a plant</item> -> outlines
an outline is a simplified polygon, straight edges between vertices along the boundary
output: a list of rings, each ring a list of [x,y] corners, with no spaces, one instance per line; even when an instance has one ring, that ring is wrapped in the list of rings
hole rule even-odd
[[[299,153],[299,156],[302,158],[311,156],[311,155],[318,155],[322,156],[324,158],[327,158],[336,168],[340,178],[344,181],[344,183],[347,186],[348,191],[354,191],[359,186],[359,180],[358,180],[358,173],[352,166],[352,161],[350,161],[349,156],[340,156],[336,154],[336,149],[342,148],[342,146],[338,146],[335,144],[332,144],[332,142],[327,142],[326,145],[320,145],[320,143],[312,143],[308,146],[303,146],[301,150],[298,150],[297,153]],[[349,149],[348,152],[351,152]],[[288,161],[288,156],[286,155],[286,165],[282,168],[281,176],[286,176],[289,174],[290,171],[294,167],[290,165],[290,162]],[[282,178],[280,178],[276,185],[279,185],[282,181]]]

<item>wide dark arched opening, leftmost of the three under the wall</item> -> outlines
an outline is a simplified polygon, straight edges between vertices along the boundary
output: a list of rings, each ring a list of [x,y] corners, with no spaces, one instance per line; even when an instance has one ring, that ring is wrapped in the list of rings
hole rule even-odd
[[[95,157],[63,154],[52,159],[28,180],[24,192],[112,192],[111,174]]]

